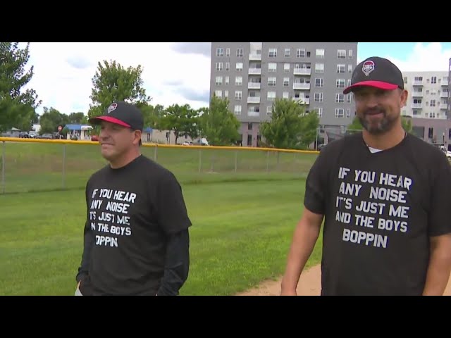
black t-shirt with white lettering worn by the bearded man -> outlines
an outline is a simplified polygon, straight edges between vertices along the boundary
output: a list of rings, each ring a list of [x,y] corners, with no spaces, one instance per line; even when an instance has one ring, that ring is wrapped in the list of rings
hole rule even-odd
[[[331,142],[307,177],[304,206],[323,214],[323,295],[421,295],[429,237],[451,232],[451,166],[407,134],[372,153],[354,134]]]

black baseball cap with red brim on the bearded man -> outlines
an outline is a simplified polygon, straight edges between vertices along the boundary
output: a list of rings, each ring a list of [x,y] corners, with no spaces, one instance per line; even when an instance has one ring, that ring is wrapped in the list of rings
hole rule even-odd
[[[371,56],[359,63],[354,69],[351,84],[343,90],[343,94],[352,92],[356,87],[369,86],[379,89],[404,89],[401,70],[386,58]]]

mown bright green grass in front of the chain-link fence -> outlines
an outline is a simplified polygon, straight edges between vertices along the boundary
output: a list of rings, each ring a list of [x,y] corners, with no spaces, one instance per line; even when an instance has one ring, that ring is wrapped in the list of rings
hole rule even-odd
[[[301,215],[300,173],[249,174],[253,181],[242,173],[242,182],[219,182],[233,176],[218,175],[204,173],[216,177],[202,181],[206,184],[179,175],[191,182],[183,189],[193,223],[192,264],[183,295],[235,294],[278,277]],[[80,189],[0,195],[0,295],[73,294],[82,254],[83,195]],[[319,263],[320,249],[321,241],[308,265]]]

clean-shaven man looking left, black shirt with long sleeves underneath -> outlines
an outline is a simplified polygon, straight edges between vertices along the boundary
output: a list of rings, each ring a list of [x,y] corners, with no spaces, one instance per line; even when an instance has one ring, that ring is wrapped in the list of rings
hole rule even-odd
[[[173,173],[140,154],[140,110],[114,102],[101,125],[109,161],[86,184],[84,250],[75,294],[177,295],[190,265],[191,225]]]

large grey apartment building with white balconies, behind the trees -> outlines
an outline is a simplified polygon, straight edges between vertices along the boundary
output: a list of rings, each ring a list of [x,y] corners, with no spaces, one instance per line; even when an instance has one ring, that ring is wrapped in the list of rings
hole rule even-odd
[[[242,146],[257,146],[276,97],[316,111],[321,133],[340,134],[354,118],[342,94],[357,65],[357,42],[213,42],[210,96],[228,98]]]

